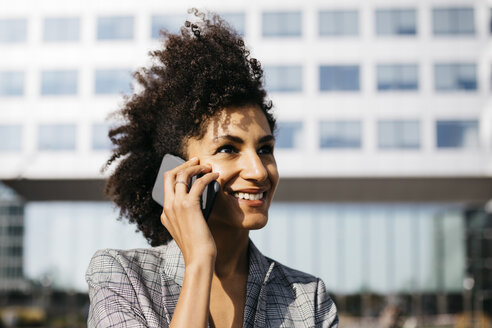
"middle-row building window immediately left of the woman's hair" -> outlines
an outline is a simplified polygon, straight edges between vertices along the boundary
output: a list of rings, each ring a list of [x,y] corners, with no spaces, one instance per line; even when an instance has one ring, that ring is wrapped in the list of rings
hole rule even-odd
[[[96,70],[94,91],[98,95],[130,93],[132,74],[127,69]]]

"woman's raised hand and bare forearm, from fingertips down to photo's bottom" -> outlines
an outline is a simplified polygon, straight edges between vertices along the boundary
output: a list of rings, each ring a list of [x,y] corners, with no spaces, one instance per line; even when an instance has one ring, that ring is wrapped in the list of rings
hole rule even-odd
[[[196,179],[188,191],[191,177]],[[183,286],[170,327],[207,327],[210,288],[217,248],[203,217],[200,195],[219,177],[209,165],[199,165],[198,158],[164,174],[164,210],[161,222],[178,244],[185,261]]]

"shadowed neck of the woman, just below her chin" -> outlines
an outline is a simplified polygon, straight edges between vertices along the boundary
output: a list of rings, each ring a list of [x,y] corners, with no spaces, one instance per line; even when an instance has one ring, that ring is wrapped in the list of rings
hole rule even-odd
[[[239,229],[211,229],[217,246],[215,273],[218,278],[248,274],[249,231]]]

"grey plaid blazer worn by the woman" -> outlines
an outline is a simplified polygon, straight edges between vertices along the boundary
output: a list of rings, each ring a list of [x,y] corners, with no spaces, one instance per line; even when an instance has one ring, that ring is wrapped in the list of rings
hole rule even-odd
[[[338,327],[319,278],[263,256],[250,241],[244,327]],[[89,327],[168,327],[184,277],[174,241],[150,249],[100,250],[86,273]]]

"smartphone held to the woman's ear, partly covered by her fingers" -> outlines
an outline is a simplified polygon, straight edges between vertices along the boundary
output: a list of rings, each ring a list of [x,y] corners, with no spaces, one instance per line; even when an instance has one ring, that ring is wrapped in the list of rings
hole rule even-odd
[[[175,167],[180,166],[184,162],[185,160],[181,157],[170,154],[164,155],[164,158],[161,162],[161,167],[159,168],[159,173],[157,174],[157,178],[155,179],[154,188],[152,189],[152,198],[161,206],[164,206],[164,173],[166,171],[174,169]],[[191,188],[196,179],[198,179],[202,175],[203,174],[192,177],[188,189]],[[212,212],[215,197],[217,196],[219,190],[220,185],[217,181],[214,180],[205,187],[205,190],[203,190],[203,193],[200,196],[200,204],[205,221],[208,221],[208,217]]]

